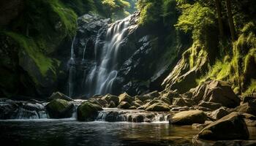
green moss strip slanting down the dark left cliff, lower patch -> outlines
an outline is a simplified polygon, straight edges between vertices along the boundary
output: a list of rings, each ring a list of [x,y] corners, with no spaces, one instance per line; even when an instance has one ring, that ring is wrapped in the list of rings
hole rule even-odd
[[[20,50],[20,53],[26,53],[26,55],[33,59],[43,77],[46,77],[48,71],[53,72],[53,74],[56,75],[56,68],[53,65],[54,62],[56,62],[56,59],[48,58],[40,52],[38,45],[33,39],[13,32],[6,32],[6,34],[18,42],[20,47],[23,49]]]

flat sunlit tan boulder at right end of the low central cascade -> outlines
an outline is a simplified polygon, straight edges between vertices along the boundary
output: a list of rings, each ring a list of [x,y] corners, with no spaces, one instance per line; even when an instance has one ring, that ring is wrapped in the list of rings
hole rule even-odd
[[[203,111],[189,110],[176,113],[169,120],[169,123],[174,125],[192,125],[193,123],[204,123],[206,119],[207,115]]]

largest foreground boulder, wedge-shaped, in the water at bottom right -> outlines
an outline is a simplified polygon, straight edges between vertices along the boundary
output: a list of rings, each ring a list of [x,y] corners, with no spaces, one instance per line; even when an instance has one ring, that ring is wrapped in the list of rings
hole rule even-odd
[[[208,140],[248,139],[249,131],[243,117],[232,112],[203,128],[197,137]]]

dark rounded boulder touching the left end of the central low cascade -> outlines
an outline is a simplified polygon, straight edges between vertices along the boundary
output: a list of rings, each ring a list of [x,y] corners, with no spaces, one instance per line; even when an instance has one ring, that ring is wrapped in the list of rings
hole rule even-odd
[[[103,110],[97,104],[91,104],[89,101],[84,101],[78,106],[77,114],[80,121],[92,121],[97,118],[98,111]]]

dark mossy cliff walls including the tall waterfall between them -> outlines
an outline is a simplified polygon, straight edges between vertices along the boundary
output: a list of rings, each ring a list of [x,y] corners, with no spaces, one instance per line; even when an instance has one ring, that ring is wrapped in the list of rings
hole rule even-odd
[[[207,80],[226,80],[236,93],[255,92],[255,18],[245,14],[230,42],[229,32],[219,40],[217,18],[205,7],[210,25],[177,29],[187,14],[173,0],[139,4],[140,12],[115,23],[92,14],[78,18],[91,9],[64,0],[1,3],[1,14],[7,13],[0,15],[1,96],[186,93]]]

